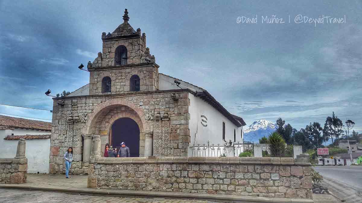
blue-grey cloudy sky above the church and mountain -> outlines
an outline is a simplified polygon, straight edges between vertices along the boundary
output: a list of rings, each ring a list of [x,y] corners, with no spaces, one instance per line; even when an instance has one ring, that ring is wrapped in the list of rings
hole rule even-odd
[[[77,66],[102,51],[102,32],[123,22],[125,8],[147,34],[160,73],[205,88],[247,125],[282,117],[300,129],[324,125],[334,111],[362,133],[360,0],[0,0],[0,103],[52,109],[47,89],[86,85],[89,73]],[[0,112],[51,119],[49,111],[0,105]]]

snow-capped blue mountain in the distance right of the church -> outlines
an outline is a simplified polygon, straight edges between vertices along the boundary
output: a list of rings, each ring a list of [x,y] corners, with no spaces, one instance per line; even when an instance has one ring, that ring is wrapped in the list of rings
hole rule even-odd
[[[265,119],[254,121],[244,130],[244,142],[258,143],[260,138],[268,137],[269,133],[274,132],[276,129],[276,125],[271,121]]]

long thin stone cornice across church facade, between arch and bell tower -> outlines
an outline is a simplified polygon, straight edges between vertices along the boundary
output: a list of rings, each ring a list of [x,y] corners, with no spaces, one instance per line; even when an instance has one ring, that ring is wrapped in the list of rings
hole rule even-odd
[[[63,96],[63,97],[54,97],[53,100],[72,100],[72,99],[86,99],[86,98],[118,98],[118,97],[127,97],[133,95],[150,95],[150,94],[165,94],[165,93],[174,93],[174,92],[190,92],[194,94],[192,90],[189,89],[176,89],[176,90],[156,90],[156,91],[139,91],[139,92],[128,92],[121,94],[101,94],[101,95],[80,95],[80,96]]]

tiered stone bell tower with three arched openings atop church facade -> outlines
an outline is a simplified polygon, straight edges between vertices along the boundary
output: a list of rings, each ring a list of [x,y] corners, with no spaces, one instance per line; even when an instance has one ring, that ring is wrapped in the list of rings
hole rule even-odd
[[[135,31],[129,19],[125,9],[124,22],[113,33],[102,33],[103,53],[87,65],[90,95],[159,90],[159,65],[146,47],[146,33]]]

